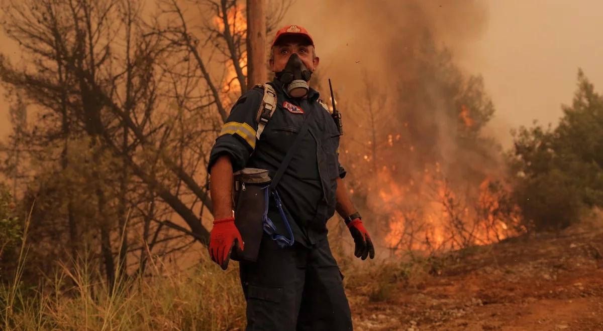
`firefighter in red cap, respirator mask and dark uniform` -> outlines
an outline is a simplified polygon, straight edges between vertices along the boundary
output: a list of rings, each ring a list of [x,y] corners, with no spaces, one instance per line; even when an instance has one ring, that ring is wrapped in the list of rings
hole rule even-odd
[[[373,243],[343,181],[338,128],[308,85],[319,61],[306,29],[288,25],[277,31],[269,60],[275,78],[268,83],[276,92],[274,113],[258,122],[266,88],[244,93],[210,153],[214,226],[209,252],[226,269],[230,252],[245,249],[232,213],[233,172],[245,167],[276,172],[305,119],[314,113],[276,188],[287,220],[271,197],[268,217],[274,233],[262,237],[255,262],[239,263],[247,330],[352,330],[343,274],[327,241],[326,221],[335,209],[349,227],[355,255],[374,258]]]

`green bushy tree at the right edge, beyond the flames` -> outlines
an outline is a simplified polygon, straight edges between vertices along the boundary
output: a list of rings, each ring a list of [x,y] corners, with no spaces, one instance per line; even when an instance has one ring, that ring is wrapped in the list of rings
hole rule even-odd
[[[528,229],[559,230],[603,206],[603,96],[580,71],[556,128],[520,128],[510,155],[513,191]]]

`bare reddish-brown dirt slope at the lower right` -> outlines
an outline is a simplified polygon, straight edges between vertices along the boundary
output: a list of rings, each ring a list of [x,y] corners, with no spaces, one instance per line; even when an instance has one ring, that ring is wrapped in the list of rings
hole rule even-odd
[[[350,292],[356,330],[603,330],[603,229],[514,238],[450,255],[385,299]]]

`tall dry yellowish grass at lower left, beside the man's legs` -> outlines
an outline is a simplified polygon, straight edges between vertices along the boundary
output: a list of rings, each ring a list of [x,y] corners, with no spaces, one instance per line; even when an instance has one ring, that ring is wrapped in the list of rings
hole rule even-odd
[[[110,290],[98,265],[83,259],[28,288],[21,282],[31,267],[25,242],[14,278],[0,283],[0,329],[225,330],[245,324],[236,263],[226,272],[209,262],[165,272],[169,268],[152,259],[151,275],[118,277]]]

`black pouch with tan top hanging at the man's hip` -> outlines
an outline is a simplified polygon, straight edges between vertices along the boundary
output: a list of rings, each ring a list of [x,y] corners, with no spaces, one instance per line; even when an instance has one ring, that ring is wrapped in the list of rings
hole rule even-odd
[[[235,261],[257,260],[257,253],[264,232],[263,221],[268,211],[268,170],[245,168],[234,173],[233,201],[235,203],[235,226],[239,230],[244,250],[233,250]]]

